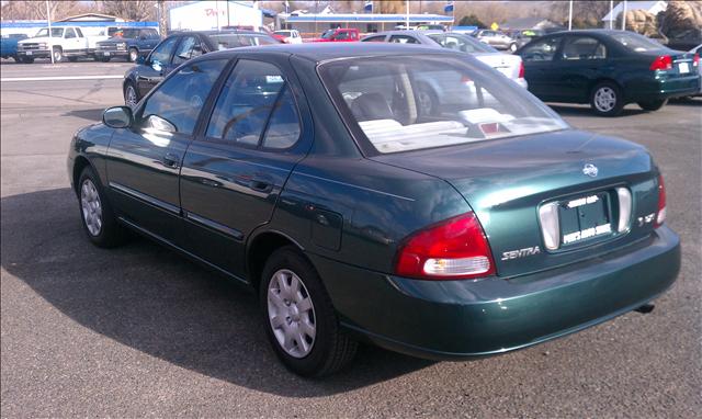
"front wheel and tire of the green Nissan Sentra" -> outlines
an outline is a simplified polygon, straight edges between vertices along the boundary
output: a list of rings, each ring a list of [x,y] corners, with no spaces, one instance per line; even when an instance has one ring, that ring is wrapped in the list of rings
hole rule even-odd
[[[102,248],[112,248],[124,244],[127,231],[117,222],[100,179],[90,166],[87,166],[80,173],[76,193],[80,219],[88,239]]]

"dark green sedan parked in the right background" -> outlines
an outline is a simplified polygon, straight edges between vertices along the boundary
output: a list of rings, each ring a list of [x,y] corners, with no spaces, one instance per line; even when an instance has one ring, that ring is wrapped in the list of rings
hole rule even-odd
[[[619,115],[627,103],[657,111],[668,99],[700,88],[700,56],[633,32],[559,32],[514,54],[524,63],[529,91],[547,102],[590,103],[595,113]]]

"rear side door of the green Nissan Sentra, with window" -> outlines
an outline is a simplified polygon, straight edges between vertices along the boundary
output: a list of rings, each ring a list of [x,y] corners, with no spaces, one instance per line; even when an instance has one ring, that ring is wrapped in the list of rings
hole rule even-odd
[[[268,223],[312,143],[305,100],[286,58],[239,59],[181,172],[186,250],[239,278],[247,239]]]

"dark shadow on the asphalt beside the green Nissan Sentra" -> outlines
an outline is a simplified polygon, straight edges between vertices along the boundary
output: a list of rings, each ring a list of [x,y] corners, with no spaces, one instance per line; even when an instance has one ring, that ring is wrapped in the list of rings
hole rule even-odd
[[[93,247],[70,189],[3,197],[0,207],[7,272],[78,324],[176,365],[261,392],[317,397],[432,364],[364,346],[341,374],[299,378],[269,348],[252,294],[146,239]]]

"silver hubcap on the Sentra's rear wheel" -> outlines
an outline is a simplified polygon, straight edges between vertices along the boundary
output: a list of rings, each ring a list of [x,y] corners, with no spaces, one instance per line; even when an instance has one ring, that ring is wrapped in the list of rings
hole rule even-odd
[[[315,306],[303,281],[281,269],[268,285],[268,318],[280,347],[293,358],[304,358],[315,344]]]

